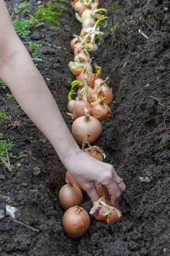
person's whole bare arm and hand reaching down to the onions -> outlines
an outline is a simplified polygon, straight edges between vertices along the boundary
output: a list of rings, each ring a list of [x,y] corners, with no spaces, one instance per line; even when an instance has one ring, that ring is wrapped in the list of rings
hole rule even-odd
[[[96,186],[103,184],[115,204],[125,190],[125,184],[122,182],[116,185],[120,177],[113,166],[99,162],[80,150],[44,79],[18,38],[3,0],[0,0],[0,78],[53,145],[65,168],[91,200],[99,199]]]

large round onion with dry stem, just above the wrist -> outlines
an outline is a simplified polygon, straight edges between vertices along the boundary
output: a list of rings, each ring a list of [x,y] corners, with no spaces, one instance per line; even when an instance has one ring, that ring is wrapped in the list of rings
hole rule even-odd
[[[93,143],[102,134],[102,125],[99,120],[90,116],[88,109],[85,108],[85,116],[80,116],[73,122],[71,133],[80,145],[87,135],[90,135],[89,143]]]

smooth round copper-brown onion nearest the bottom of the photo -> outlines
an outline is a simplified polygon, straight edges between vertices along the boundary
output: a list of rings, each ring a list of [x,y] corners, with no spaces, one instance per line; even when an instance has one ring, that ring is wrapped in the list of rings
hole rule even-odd
[[[62,218],[65,233],[71,238],[78,238],[85,234],[90,225],[90,217],[82,207],[71,207]]]

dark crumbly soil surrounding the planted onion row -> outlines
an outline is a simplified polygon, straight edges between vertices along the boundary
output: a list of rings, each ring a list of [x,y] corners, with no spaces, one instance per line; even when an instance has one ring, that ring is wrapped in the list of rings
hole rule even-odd
[[[12,12],[20,2],[8,0],[6,4]],[[29,2],[34,9],[36,1]],[[110,5],[108,0],[100,2],[102,8]],[[66,170],[51,144],[17,102],[9,102],[7,90],[1,90],[0,110],[6,109],[11,122],[20,116],[22,125],[11,130],[10,120],[6,120],[1,122],[0,132],[13,141],[13,154],[24,151],[25,156],[20,167],[17,167],[19,160],[13,163],[16,172],[12,174],[0,167],[0,174],[5,175],[0,194],[18,203],[20,221],[40,230],[37,233],[6,217],[0,222],[2,256],[170,255],[170,113],[150,98],[161,98],[163,105],[170,104],[170,4],[161,0],[139,0],[139,3],[113,0],[113,5],[121,8],[112,12],[114,26],[121,23],[112,35],[109,12],[105,37],[94,56],[95,63],[103,68],[102,78],[109,76],[115,102],[110,105],[111,119],[102,122],[103,133],[95,144],[105,151],[105,161],[113,164],[127,185],[119,201],[122,221],[105,224],[91,217],[84,236],[75,240],[66,236],[62,229],[64,210],[58,201]],[[73,121],[65,116],[65,111],[74,79],[68,69],[68,62],[73,60],[69,42],[72,34],[79,34],[80,29],[74,12],[68,7],[62,29],[37,29],[30,39],[42,42],[42,62],[37,62],[37,68],[69,128]],[[139,34],[139,29],[148,40]],[[55,44],[61,49],[54,49]],[[33,165],[40,167],[37,176],[32,172]],[[149,177],[150,183],[139,180],[144,176]],[[5,205],[6,199],[1,198],[0,209]],[[85,197],[81,206],[89,212],[91,205]]]

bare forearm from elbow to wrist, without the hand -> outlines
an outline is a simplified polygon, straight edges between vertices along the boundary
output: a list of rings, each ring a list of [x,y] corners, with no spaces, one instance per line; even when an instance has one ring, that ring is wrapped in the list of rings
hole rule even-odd
[[[45,81],[24,48],[0,69],[0,78],[8,85],[20,107],[51,142],[65,164],[65,156],[79,151],[79,146],[65,124]]]

